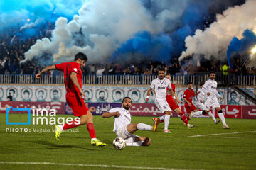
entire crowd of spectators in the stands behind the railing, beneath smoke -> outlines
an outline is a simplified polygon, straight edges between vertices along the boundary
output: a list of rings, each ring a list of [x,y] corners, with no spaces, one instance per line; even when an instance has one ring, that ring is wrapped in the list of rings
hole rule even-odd
[[[46,65],[41,65],[38,60],[31,60],[25,64],[20,64],[24,59],[24,53],[36,43],[38,38],[50,38],[50,29],[53,28],[52,23],[48,23],[46,28],[38,28],[38,35],[28,39],[22,38],[22,32],[18,30],[19,26],[11,28],[9,31],[0,34],[0,74],[37,74]],[[36,29],[36,28],[35,28]],[[193,62],[192,62],[193,61]],[[126,64],[107,63],[107,64],[87,64],[82,68],[84,74],[124,74],[124,75],[156,75],[157,69],[165,69],[166,73],[171,75],[194,75],[206,74],[210,71],[223,72],[223,65],[226,63],[221,61],[206,60],[203,57],[198,59],[196,63],[192,57],[178,62],[177,58],[173,58],[169,64],[162,62],[153,62],[145,60],[140,62],[127,62]],[[61,74],[60,72],[47,72],[46,74]],[[241,59],[235,60],[228,65],[228,74],[234,75],[256,75],[255,68],[247,68],[242,64]]]

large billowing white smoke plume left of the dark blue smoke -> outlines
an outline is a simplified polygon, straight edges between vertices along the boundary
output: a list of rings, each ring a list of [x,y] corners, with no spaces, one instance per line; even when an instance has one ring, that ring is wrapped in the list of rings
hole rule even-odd
[[[151,0],[156,7],[154,13],[137,0],[95,0],[85,1],[68,22],[58,18],[52,38],[38,40],[25,53],[25,60],[53,55],[53,61],[70,61],[77,52],[85,52],[90,62],[105,61],[122,43],[133,38],[139,30],[160,33],[175,28],[186,10],[187,1]],[[178,8],[176,12],[173,12]],[[170,23],[170,24],[166,24]]]

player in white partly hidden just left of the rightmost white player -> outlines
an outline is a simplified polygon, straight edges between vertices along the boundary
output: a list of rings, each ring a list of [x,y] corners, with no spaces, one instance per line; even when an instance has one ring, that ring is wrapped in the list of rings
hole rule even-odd
[[[196,95],[196,99],[197,99],[197,101],[196,101],[196,108],[198,108],[198,110],[201,110],[201,111],[197,111],[195,113],[191,113],[191,115],[189,115],[190,118],[192,118],[193,115],[203,115],[203,110],[205,109],[205,105],[203,104],[203,101],[205,99],[205,93],[202,90],[203,85],[204,85],[204,83],[200,84],[200,89],[198,89],[198,92],[197,92],[197,95]],[[220,120],[216,120],[214,118],[214,115],[212,113],[210,113],[210,111],[208,112],[208,115],[210,116],[210,118],[213,119],[215,124],[220,123]]]

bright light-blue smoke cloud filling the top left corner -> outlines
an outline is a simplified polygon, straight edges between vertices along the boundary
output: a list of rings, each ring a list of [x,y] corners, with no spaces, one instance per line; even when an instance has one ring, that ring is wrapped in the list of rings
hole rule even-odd
[[[82,1],[68,0],[1,0],[0,1],[0,33],[8,30],[19,30],[26,23],[33,23],[41,18],[41,22],[30,30],[9,31],[10,35],[26,39],[38,34],[38,30],[47,28],[47,23],[54,23],[63,16],[70,21],[82,6]]]

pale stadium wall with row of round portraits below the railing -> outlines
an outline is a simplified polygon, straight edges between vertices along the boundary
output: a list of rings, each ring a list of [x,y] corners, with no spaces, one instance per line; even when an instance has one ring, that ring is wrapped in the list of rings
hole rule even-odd
[[[82,90],[87,92],[87,101],[90,103],[121,103],[124,96],[132,98],[133,103],[144,103],[146,91],[149,86],[82,86]],[[183,101],[183,92],[186,86],[177,86],[178,98]],[[240,87],[255,98],[255,86]],[[194,88],[196,91],[196,88]],[[38,102],[65,102],[65,86],[58,85],[7,85],[0,86],[0,101],[7,101],[7,96],[11,92],[13,101],[38,101]],[[238,94],[233,89],[224,87],[218,88],[218,93],[222,96],[220,104],[226,105],[253,105],[247,98]],[[228,97],[229,94],[229,97]],[[102,98],[100,98],[102,96]],[[149,97],[149,103],[154,103],[155,94]],[[195,100],[193,100],[195,101]]]

